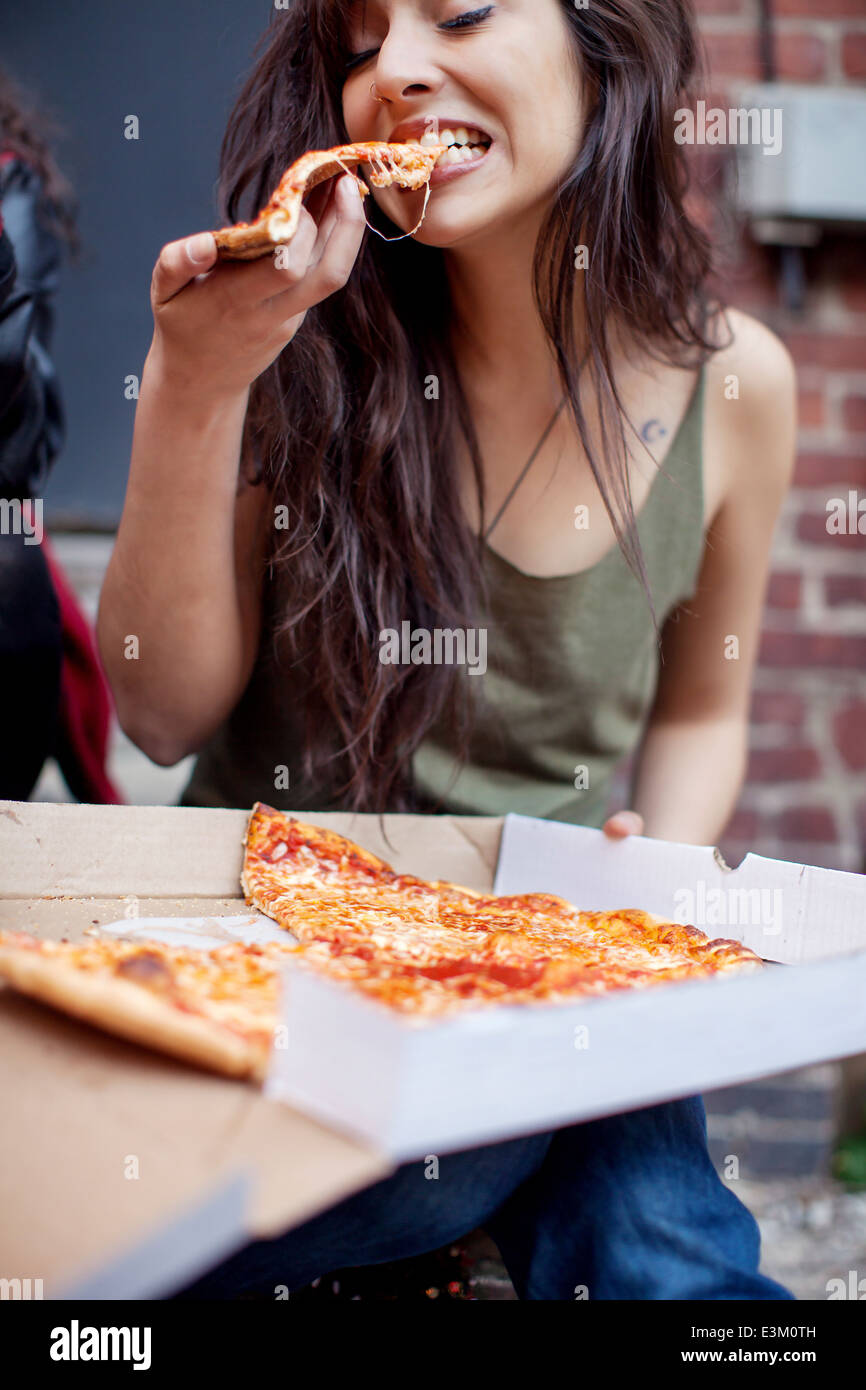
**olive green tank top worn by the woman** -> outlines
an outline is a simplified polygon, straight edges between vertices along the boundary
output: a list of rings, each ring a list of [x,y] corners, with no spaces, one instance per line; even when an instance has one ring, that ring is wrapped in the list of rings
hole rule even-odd
[[[659,624],[695,591],[703,552],[705,371],[637,525]],[[456,770],[448,720],[418,748],[418,810],[527,816],[601,826],[613,771],[637,746],[659,652],[646,596],[619,545],[577,574],[537,578],[485,546],[487,671],[468,759]],[[265,603],[265,628],[271,605]],[[327,771],[300,776],[297,676],[265,637],[249,685],[199,753],[185,806],[343,809]],[[295,692],[295,698],[293,698]]]

